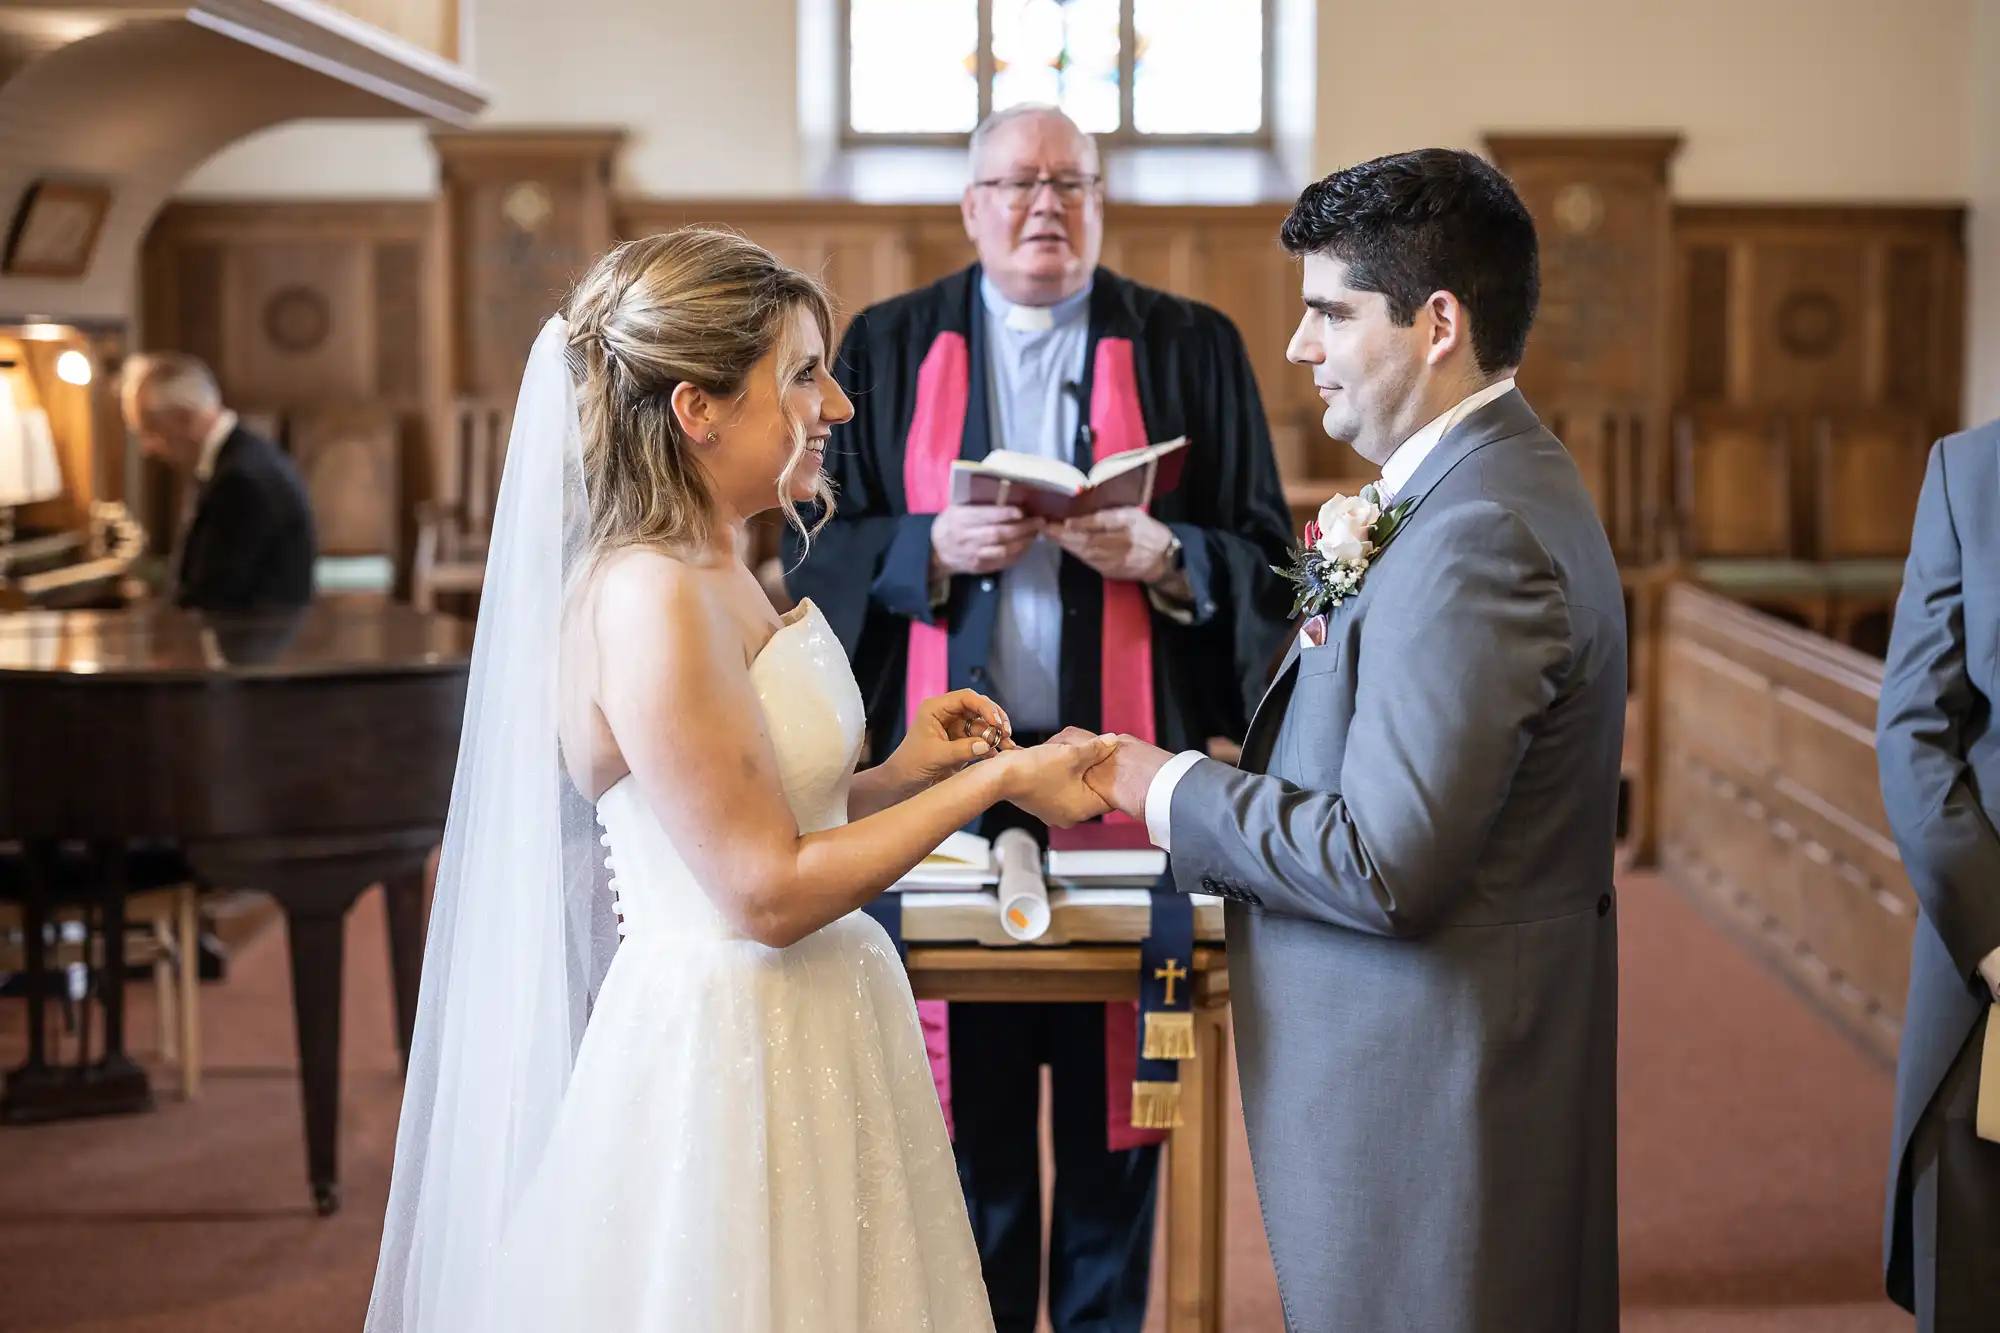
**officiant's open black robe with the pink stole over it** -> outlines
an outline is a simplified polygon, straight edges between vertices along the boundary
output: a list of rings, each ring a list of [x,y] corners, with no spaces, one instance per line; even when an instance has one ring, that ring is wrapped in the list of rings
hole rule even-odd
[[[834,428],[826,450],[838,506],[810,552],[786,534],[786,586],[810,596],[846,646],[876,761],[924,697],[992,693],[1000,574],[954,576],[940,608],[930,590],[930,524],[946,504],[950,460],[990,448],[984,324],[978,266],[854,318],[836,366],[854,418]],[[1100,268],[1078,402],[1088,428],[1070,462],[1082,470],[1110,452],[1188,436],[1178,486],[1150,506],[1180,536],[1188,604],[1182,622],[1136,584],[1108,584],[1064,556],[1060,717],[1168,751],[1206,749],[1208,737],[1240,741],[1286,632],[1290,596],[1270,566],[1292,544],[1242,336],[1210,306]],[[926,1013],[934,1065],[944,1057],[940,1023]],[[1134,1025],[1132,1007],[1108,1007],[1112,1147],[1158,1139],[1130,1125]],[[950,1079],[938,1073],[950,1119]]]

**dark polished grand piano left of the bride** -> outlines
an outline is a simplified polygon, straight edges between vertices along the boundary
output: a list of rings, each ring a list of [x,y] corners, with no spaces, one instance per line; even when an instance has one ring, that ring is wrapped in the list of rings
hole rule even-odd
[[[424,863],[444,835],[470,638],[462,620],[368,600],[250,616],[152,604],[0,616],[0,841],[20,847],[26,871],[28,971],[64,861],[96,869],[104,939],[122,939],[134,849],[182,857],[202,883],[272,895],[290,933],[322,1215],[340,1201],[342,921],[364,889],[384,887],[408,1057]],[[52,1067],[36,991],[28,1061],[8,1075],[0,1115],[150,1105],[122,1029],[112,981],[102,1057]]]

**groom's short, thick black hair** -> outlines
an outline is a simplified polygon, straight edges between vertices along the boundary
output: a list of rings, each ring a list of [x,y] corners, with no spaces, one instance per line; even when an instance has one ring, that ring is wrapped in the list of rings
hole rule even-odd
[[[1472,312],[1480,370],[1520,364],[1542,294],[1534,218],[1478,154],[1422,148],[1338,170],[1306,186],[1278,238],[1344,262],[1348,286],[1382,292],[1402,326],[1450,292]]]

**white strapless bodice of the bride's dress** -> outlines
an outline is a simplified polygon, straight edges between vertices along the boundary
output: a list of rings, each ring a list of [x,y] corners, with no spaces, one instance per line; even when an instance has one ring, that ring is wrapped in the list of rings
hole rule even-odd
[[[804,600],[786,614],[750,662],[750,683],[798,831],[822,833],[848,823],[848,783],[866,717],[848,656],[818,606]],[[630,775],[598,797],[598,823],[620,935],[736,937]]]

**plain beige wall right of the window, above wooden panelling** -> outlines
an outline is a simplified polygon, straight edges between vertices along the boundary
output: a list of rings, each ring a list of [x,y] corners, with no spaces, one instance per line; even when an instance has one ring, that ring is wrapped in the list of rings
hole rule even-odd
[[[1486,130],[1680,130],[1684,198],[1962,198],[1970,4],[1336,0],[1320,6],[1316,158],[1476,148]]]

